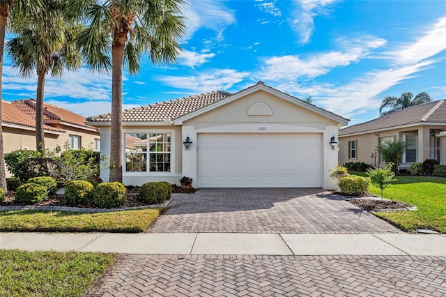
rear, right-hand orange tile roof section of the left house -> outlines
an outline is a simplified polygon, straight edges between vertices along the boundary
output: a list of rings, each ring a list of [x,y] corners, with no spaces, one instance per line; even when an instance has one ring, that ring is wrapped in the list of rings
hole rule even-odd
[[[20,109],[22,112],[27,114],[31,119],[36,119],[36,100],[34,99],[23,99],[11,101],[11,103]],[[76,128],[95,130],[91,126],[85,124],[86,118],[75,112],[70,112],[62,107],[51,105],[48,103],[43,103],[43,122],[47,124],[60,123],[62,125],[69,125]]]

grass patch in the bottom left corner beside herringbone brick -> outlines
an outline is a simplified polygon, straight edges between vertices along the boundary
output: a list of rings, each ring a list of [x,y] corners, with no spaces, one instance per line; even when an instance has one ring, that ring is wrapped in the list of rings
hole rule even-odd
[[[85,296],[117,257],[0,250],[0,296]]]

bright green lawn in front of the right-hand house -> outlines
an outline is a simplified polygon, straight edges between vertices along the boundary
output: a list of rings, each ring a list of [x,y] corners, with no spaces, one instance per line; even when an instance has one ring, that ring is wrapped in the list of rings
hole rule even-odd
[[[384,190],[384,198],[404,201],[417,206],[418,210],[381,212],[374,215],[397,225],[404,231],[429,229],[446,234],[446,178],[427,176],[396,176],[396,178],[397,181]],[[380,195],[380,190],[374,185],[370,185],[369,192]]]

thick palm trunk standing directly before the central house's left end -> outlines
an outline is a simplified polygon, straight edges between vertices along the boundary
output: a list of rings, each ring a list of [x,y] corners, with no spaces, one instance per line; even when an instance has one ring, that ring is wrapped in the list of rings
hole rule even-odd
[[[124,30],[125,31],[125,30]],[[112,41],[112,131],[109,181],[123,181],[123,57],[127,31]]]

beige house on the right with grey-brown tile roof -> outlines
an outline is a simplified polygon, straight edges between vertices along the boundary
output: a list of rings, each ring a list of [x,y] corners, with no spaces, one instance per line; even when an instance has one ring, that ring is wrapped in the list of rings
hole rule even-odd
[[[387,141],[406,142],[401,168],[426,159],[446,164],[446,100],[408,107],[340,130],[339,162],[383,167],[376,146]]]

